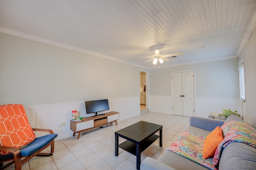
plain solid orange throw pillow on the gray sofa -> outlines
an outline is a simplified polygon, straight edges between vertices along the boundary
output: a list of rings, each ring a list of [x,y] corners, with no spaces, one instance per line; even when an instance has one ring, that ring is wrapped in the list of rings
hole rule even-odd
[[[223,141],[224,137],[222,130],[217,126],[209,135],[204,139],[203,158],[207,159],[214,156],[218,145]]]

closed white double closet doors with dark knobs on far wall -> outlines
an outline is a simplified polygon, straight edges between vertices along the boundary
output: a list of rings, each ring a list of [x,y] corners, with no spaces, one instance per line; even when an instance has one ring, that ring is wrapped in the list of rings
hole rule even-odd
[[[172,114],[194,115],[193,72],[172,73]]]

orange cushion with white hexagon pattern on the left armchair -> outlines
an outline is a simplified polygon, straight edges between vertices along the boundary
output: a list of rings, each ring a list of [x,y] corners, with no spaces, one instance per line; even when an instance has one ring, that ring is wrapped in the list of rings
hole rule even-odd
[[[0,106],[0,146],[21,148],[36,138],[20,104]],[[0,151],[0,155],[7,154]]]

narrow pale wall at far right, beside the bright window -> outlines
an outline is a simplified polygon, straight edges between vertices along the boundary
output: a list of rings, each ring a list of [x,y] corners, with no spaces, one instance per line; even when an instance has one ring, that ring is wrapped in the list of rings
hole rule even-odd
[[[244,57],[246,82],[246,120],[256,127],[256,29],[246,43],[239,60]]]

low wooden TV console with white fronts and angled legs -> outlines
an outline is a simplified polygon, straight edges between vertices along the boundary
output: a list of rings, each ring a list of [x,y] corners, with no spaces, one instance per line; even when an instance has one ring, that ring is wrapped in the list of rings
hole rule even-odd
[[[85,117],[85,119],[82,121],[70,120],[70,130],[74,132],[73,136],[78,133],[77,139],[79,139],[80,134],[84,131],[89,131],[91,129],[95,129],[114,122],[117,125],[118,119],[119,113],[116,111],[110,111],[108,113],[104,113],[104,115]]]

